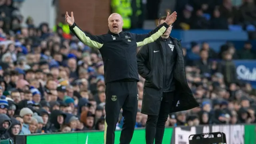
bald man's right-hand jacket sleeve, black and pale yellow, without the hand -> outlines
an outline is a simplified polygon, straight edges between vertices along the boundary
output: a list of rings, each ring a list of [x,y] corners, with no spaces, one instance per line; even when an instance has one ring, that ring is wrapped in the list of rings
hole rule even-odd
[[[156,27],[154,30],[150,31],[148,34],[136,34],[137,46],[144,46],[145,44],[154,42],[160,36],[162,36],[162,34],[164,34],[168,27],[169,25],[164,22],[163,24],[160,24],[158,27]]]

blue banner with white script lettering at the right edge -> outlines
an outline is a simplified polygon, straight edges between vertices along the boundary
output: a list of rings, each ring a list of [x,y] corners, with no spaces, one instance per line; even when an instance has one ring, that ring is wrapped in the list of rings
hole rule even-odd
[[[234,60],[238,79],[250,82],[256,88],[256,60]]]

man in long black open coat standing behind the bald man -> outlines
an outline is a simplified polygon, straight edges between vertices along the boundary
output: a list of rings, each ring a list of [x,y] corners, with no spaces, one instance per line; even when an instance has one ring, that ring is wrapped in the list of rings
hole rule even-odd
[[[162,24],[166,17],[158,20]],[[180,40],[170,37],[172,26],[137,54],[138,72],[146,79],[141,113],[148,115],[146,144],[162,144],[168,114],[199,106],[186,80]]]

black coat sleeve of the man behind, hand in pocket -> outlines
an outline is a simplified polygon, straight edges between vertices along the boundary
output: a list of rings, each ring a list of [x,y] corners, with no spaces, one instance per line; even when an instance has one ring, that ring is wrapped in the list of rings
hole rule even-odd
[[[138,73],[142,78],[146,78],[150,73],[147,67],[148,57],[148,45],[142,46],[137,53]]]

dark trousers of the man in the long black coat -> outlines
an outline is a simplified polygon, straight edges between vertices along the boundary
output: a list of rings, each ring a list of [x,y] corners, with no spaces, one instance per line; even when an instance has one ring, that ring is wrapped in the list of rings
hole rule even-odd
[[[158,116],[148,115],[146,122],[146,144],[162,144],[164,125],[170,112],[174,92],[164,92]]]

